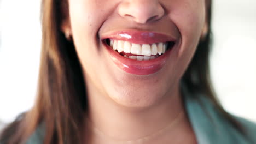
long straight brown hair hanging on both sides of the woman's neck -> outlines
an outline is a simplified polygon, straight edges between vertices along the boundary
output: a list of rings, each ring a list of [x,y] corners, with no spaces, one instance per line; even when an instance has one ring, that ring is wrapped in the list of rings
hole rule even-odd
[[[44,143],[80,143],[87,108],[82,67],[72,42],[61,32],[66,0],[42,1],[42,53],[37,100],[33,108],[11,123],[2,133],[4,143],[24,143],[39,125],[45,125]],[[211,27],[211,4],[207,11]],[[202,93],[210,98],[224,116],[236,127],[236,121],[224,111],[215,97],[209,72],[211,32],[200,41],[182,81],[190,93]],[[196,94],[194,98],[197,99]]]

